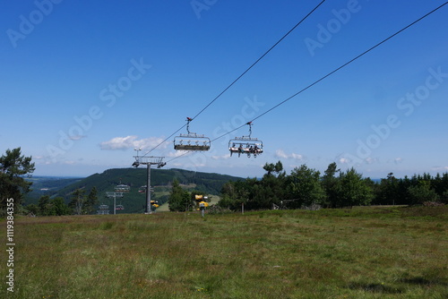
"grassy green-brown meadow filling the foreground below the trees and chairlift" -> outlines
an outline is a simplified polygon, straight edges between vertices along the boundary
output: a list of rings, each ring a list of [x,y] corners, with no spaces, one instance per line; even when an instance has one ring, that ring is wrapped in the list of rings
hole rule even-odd
[[[447,222],[447,207],[16,218],[0,297],[442,299]]]

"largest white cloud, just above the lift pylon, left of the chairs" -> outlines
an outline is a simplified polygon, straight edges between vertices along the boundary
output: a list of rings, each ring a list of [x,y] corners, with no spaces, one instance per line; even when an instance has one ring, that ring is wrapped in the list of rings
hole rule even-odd
[[[99,143],[99,148],[103,150],[125,150],[125,149],[148,149],[158,146],[163,142],[163,138],[150,137],[146,139],[138,140],[135,135],[126,137],[115,137],[109,141]],[[158,149],[166,149],[168,142],[164,142]]]

